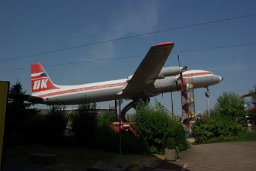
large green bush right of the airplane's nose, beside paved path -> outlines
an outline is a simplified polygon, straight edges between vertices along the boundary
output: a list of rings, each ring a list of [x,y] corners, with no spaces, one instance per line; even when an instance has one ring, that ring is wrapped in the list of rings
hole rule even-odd
[[[196,143],[223,142],[246,132],[244,104],[238,94],[223,93],[209,117],[196,119],[192,128]]]

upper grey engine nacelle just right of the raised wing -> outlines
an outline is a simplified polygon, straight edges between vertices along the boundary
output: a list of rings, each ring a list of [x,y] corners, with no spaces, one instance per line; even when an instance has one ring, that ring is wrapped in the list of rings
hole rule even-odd
[[[163,68],[159,75],[158,78],[159,79],[163,79],[165,77],[170,77],[170,76],[174,76],[174,75],[179,75],[180,73],[184,72],[187,70],[187,66],[184,67],[179,67],[179,66],[169,66],[169,67],[165,67]]]

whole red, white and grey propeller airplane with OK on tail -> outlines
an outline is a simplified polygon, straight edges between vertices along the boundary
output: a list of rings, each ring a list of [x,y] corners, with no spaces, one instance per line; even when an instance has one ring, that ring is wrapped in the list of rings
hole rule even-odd
[[[139,100],[149,101],[158,94],[182,91],[185,78],[193,78],[193,87],[218,84],[222,77],[211,71],[190,70],[187,66],[164,67],[174,43],[154,45],[148,50],[135,73],[127,78],[83,85],[54,84],[40,63],[31,64],[31,89],[29,101],[40,104],[76,105],[110,100],[132,100],[122,110],[122,116]],[[124,117],[122,117],[124,118]]]

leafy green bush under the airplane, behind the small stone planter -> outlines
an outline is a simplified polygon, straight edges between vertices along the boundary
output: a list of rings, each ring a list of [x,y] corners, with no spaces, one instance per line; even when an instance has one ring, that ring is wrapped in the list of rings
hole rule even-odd
[[[174,138],[180,151],[188,147],[184,128],[167,114],[160,103],[156,103],[156,107],[140,103],[134,121],[138,136],[152,153],[163,154],[168,138]]]

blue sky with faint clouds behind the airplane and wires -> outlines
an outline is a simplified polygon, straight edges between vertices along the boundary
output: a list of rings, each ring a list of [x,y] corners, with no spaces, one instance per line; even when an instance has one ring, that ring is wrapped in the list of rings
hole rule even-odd
[[[125,36],[256,13],[256,1],[0,1],[0,60],[76,47]],[[256,15],[147,34],[38,56],[0,61],[0,80],[17,79],[31,93],[29,68],[41,63],[55,84],[85,84],[132,75],[152,45],[172,41],[173,52],[256,42]],[[189,70],[209,70],[224,80],[210,87],[211,107],[225,91],[248,93],[255,84],[256,45],[180,52]],[[140,56],[84,63],[113,57]],[[46,67],[50,64],[67,64]],[[172,53],[165,66],[177,66]],[[205,89],[195,90],[196,112],[207,108]],[[171,109],[170,93],[156,99]],[[180,114],[180,93],[173,93]],[[154,98],[152,98],[154,101]],[[129,101],[128,101],[129,102]],[[112,101],[99,103],[108,107]],[[126,104],[127,102],[125,102]],[[39,106],[44,107],[45,106]]]

